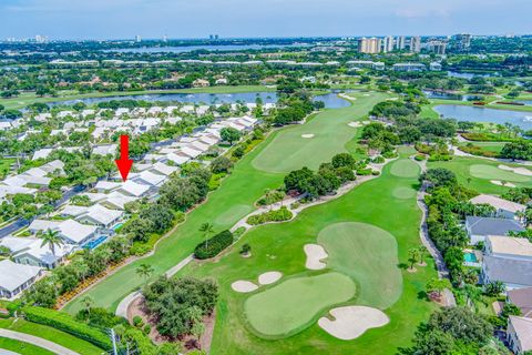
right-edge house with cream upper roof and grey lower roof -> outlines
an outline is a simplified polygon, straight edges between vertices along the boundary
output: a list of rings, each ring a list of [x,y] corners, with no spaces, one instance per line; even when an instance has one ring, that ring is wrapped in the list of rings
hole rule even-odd
[[[500,281],[507,291],[532,286],[532,243],[526,239],[493,236],[485,239],[480,281]]]

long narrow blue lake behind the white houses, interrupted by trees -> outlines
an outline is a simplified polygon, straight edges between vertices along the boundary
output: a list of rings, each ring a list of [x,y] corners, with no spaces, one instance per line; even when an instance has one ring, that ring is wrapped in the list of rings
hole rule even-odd
[[[191,104],[218,104],[218,103],[254,103],[257,98],[263,100],[263,103],[276,103],[276,92],[254,91],[254,92],[238,92],[238,93],[150,93],[143,95],[123,95],[123,97],[105,97],[105,98],[84,98],[68,101],[58,101],[48,103],[50,106],[54,105],[72,105],[78,102],[83,102],[86,105],[96,104],[100,102],[109,102],[112,100],[143,100],[150,102],[178,102]],[[339,109],[349,105],[349,101],[338,98],[336,92],[330,92],[323,95],[316,95],[315,101],[324,101],[327,109]]]

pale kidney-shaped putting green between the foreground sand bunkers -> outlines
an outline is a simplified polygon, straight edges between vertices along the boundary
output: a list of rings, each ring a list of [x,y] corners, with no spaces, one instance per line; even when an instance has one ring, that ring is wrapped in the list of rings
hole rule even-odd
[[[269,338],[294,335],[332,305],[355,296],[351,278],[340,273],[295,277],[250,296],[245,313],[250,326]]]

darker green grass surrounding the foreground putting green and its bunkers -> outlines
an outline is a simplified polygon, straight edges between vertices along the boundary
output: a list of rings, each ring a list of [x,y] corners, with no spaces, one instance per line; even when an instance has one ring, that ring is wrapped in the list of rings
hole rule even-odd
[[[216,307],[212,354],[323,353],[372,355],[395,354],[398,347],[410,345],[417,325],[426,321],[430,312],[436,308],[436,305],[426,301],[423,296],[424,285],[428,280],[436,276],[436,271],[432,260],[428,260],[429,266],[418,267],[416,273],[408,273],[397,265],[397,261],[407,262],[410,247],[420,245],[419,222],[421,212],[416,204],[415,195],[408,200],[392,197],[396,189],[416,189],[418,181],[417,176],[397,179],[390,174],[390,165],[385,168],[381,176],[357,186],[337,200],[306,209],[290,222],[254,227],[244,234],[237,245],[232,247],[222,258],[215,262],[193,262],[181,271],[178,276],[214,277],[219,284],[221,296]],[[372,234],[366,235],[368,239],[376,235],[377,233],[374,232],[378,231],[378,234],[393,235],[397,242],[396,271],[391,271],[390,266],[390,271],[387,272],[388,275],[393,273],[402,275],[402,293],[395,303],[390,298],[389,302],[393,304],[385,310],[385,313],[390,317],[390,323],[383,327],[370,329],[357,339],[349,342],[332,337],[321,329],[317,322],[311,322],[307,328],[286,338],[270,341],[257,336],[257,332],[246,316],[246,303],[255,296],[236,293],[232,290],[231,284],[237,280],[256,280],[258,275],[267,271],[279,271],[286,278],[305,275],[311,277],[330,271],[339,272],[331,268],[324,271],[306,270],[304,245],[319,242],[318,235],[320,232],[327,231],[327,227],[331,225],[352,222],[374,226]],[[383,236],[382,240],[385,240],[386,248],[391,251],[393,248],[392,241]],[[357,242],[362,243],[358,237]],[[372,241],[366,242],[368,244],[372,243]],[[252,246],[252,256],[248,258],[242,257],[238,253],[244,243]],[[375,244],[376,247],[385,248],[382,243]],[[336,248],[341,248],[341,246]],[[329,260],[332,261],[331,265],[338,263],[338,265],[344,266],[345,263],[350,263],[342,257],[338,257],[338,261],[335,262],[334,256],[331,256],[332,253],[329,254]],[[347,254],[349,258],[367,257],[367,255],[362,255],[361,251],[354,255],[345,251],[342,253],[345,253],[344,255]],[[386,257],[389,258],[392,257],[392,252],[387,254],[386,251],[372,251],[372,254],[378,253],[386,254]],[[351,265],[364,264],[352,262]],[[369,267],[369,264],[367,265]],[[375,266],[381,267],[380,264]],[[354,274],[354,271],[349,272]],[[352,277],[358,277],[358,275]],[[368,285],[369,281],[365,284],[361,282],[364,280],[354,278],[354,281],[357,284],[357,295],[345,302],[346,305],[359,304],[358,293],[361,293],[361,287],[371,287],[371,285]],[[272,290],[277,287],[276,285],[278,284],[262,286],[259,291],[256,291],[256,294],[266,294],[262,290]],[[380,283],[380,285],[388,286],[390,284]],[[375,287],[380,286],[376,285]],[[305,307],[303,304],[298,306]],[[262,312],[266,313],[267,310],[269,308]],[[318,313],[316,318],[327,316],[328,311],[324,310],[320,314]],[[254,323],[257,323],[257,321],[254,320]]]

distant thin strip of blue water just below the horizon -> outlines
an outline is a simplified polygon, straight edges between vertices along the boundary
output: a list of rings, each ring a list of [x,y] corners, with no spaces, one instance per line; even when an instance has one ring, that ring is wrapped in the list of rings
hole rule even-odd
[[[119,52],[119,53],[186,53],[193,51],[238,51],[248,49],[275,49],[275,48],[294,48],[294,47],[308,47],[307,43],[294,43],[294,44],[223,44],[223,45],[181,45],[181,47],[142,47],[142,48],[119,48],[109,49],[105,52]]]

